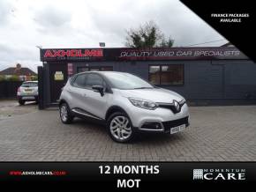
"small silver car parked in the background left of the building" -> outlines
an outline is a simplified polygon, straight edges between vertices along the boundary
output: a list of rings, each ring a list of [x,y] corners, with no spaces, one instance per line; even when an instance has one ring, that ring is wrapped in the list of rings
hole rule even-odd
[[[20,105],[24,105],[26,101],[38,102],[38,82],[23,82],[17,90],[17,98]]]

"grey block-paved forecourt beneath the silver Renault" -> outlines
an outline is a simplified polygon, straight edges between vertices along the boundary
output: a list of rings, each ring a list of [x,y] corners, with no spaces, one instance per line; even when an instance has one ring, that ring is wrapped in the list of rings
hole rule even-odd
[[[176,135],[143,134],[113,142],[98,125],[60,122],[56,109],[0,119],[1,161],[256,160],[256,106],[190,107],[191,127]]]

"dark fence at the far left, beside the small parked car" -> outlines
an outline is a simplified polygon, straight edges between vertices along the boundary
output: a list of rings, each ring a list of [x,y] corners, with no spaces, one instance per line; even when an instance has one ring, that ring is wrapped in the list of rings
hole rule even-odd
[[[22,81],[0,81],[0,99],[16,98],[17,89]]]

